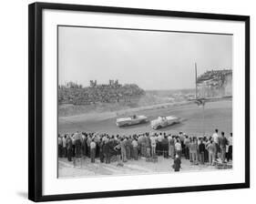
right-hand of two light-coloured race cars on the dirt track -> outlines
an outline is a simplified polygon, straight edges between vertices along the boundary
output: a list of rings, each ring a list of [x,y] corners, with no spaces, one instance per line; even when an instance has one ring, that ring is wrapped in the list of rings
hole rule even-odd
[[[151,128],[153,129],[164,128],[179,122],[180,122],[180,118],[175,116],[158,117],[157,119],[154,119],[151,121]]]

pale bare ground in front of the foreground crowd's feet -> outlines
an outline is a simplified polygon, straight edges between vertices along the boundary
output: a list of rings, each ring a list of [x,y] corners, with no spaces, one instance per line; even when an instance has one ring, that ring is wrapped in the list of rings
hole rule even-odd
[[[58,159],[58,177],[59,178],[82,178],[82,177],[97,177],[97,176],[120,176],[120,175],[148,175],[159,173],[176,173],[171,165],[172,158],[159,157],[157,163],[146,162],[145,158],[138,160],[128,160],[123,167],[117,166],[117,161],[110,164],[100,163],[96,159],[96,163],[91,163],[89,158],[86,158],[82,163],[77,162],[74,167],[73,162],[68,162],[67,158]],[[180,172],[185,171],[212,171],[218,170],[213,166],[205,165],[190,165],[189,160],[182,159]]]

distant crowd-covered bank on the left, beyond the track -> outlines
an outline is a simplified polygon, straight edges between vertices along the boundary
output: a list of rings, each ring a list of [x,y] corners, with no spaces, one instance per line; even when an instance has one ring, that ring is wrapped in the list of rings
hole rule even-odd
[[[145,95],[145,91],[136,84],[121,85],[118,80],[109,80],[108,84],[97,84],[90,80],[89,87],[74,82],[58,86],[58,103],[89,105],[96,103],[114,103],[130,101]]]

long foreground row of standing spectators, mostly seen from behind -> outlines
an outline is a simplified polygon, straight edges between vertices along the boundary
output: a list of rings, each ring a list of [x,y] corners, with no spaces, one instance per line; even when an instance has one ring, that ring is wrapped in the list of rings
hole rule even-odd
[[[129,136],[87,132],[58,135],[58,157],[67,158],[75,165],[81,159],[90,158],[94,163],[98,158],[109,164],[115,158],[118,166],[122,166],[130,159],[159,156],[174,158],[174,164],[179,164],[179,168],[181,158],[188,159],[191,165],[226,163],[232,160],[232,133],[226,137],[224,132],[219,135],[216,129],[210,137],[189,137],[182,132],[178,135],[165,132]]]

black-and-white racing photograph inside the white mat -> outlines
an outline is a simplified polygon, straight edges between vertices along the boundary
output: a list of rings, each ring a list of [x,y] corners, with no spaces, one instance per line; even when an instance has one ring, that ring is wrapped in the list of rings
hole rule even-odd
[[[57,178],[232,169],[233,35],[57,26]]]

